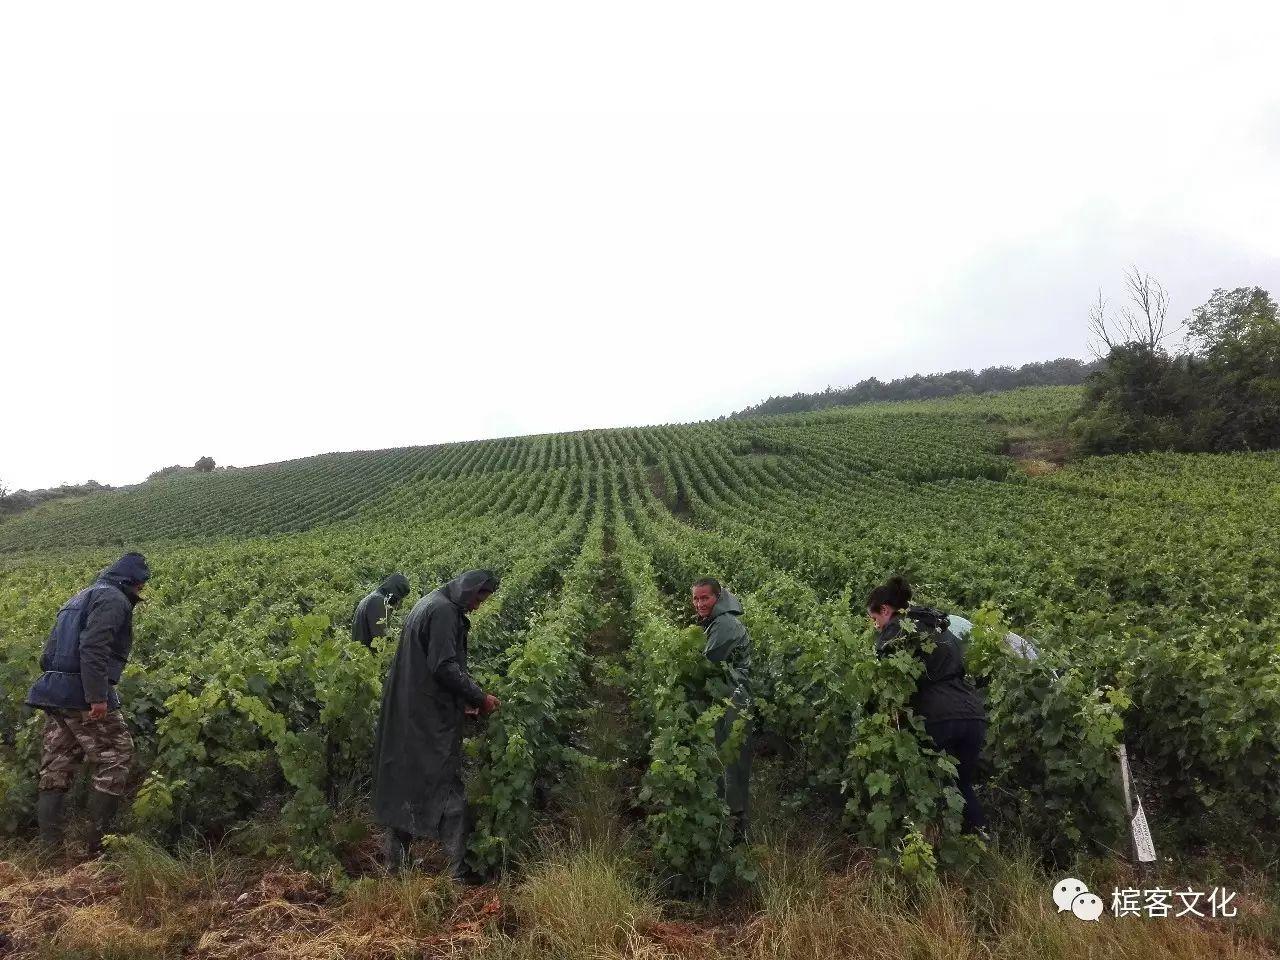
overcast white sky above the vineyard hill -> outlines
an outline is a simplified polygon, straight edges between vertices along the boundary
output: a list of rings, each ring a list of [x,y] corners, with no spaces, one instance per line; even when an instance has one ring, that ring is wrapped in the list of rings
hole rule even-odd
[[[0,6],[0,481],[1084,357],[1130,262],[1280,296],[1276,5],[893,6]]]

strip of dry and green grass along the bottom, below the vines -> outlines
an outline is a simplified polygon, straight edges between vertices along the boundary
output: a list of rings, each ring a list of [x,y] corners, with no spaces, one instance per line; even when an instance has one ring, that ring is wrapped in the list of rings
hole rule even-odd
[[[4,960],[1263,960],[1280,956],[1275,879],[1161,877],[1160,886],[1226,883],[1231,920],[1059,914],[1051,877],[1028,851],[992,852],[968,876],[905,883],[870,859],[801,836],[758,847],[760,882],[719,908],[663,904],[621,844],[550,844],[515,886],[463,890],[443,877],[365,877],[335,893],[279,865],[209,851],[172,856],[142,841],[67,872],[0,861]],[[846,851],[847,852],[847,851]],[[1199,873],[1199,870],[1196,870]],[[1156,886],[1120,861],[1080,867],[1093,890]],[[1105,897],[1106,899],[1106,897]],[[680,916],[676,920],[673,916]],[[5,936],[8,940],[5,940]]]

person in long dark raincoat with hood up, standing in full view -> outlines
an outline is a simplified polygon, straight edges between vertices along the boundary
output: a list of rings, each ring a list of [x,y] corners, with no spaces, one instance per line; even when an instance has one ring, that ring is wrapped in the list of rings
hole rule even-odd
[[[440,841],[454,879],[466,868],[471,822],[462,785],[462,723],[467,710],[493,713],[498,698],[467,672],[475,611],[498,589],[488,570],[470,570],[419,600],[404,618],[383,685],[374,746],[374,815],[387,827],[389,869],[408,865],[416,837]]]

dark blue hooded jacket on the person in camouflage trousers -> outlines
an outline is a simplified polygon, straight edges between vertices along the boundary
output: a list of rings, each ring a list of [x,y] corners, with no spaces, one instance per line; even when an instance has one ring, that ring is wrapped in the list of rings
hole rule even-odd
[[[150,576],[142,556],[129,553],[63,604],[40,657],[44,673],[27,691],[28,705],[87,710],[92,703],[105,703],[108,709],[119,708],[115,685],[133,649],[137,603],[128,588]]]

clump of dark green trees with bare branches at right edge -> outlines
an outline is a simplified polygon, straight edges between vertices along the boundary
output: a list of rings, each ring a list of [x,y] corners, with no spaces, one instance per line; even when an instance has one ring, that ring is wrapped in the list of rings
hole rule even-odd
[[[1132,269],[1129,305],[1089,308],[1103,367],[1089,379],[1073,428],[1085,453],[1239,451],[1280,447],[1280,321],[1261,287],[1215,289],[1185,321],[1187,342],[1165,342],[1169,298]]]

